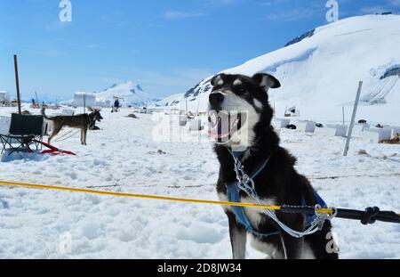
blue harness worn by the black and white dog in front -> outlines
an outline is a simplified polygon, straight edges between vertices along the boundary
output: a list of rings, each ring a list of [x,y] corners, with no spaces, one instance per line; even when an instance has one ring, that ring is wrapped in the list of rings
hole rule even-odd
[[[231,154],[236,159],[240,159],[243,155],[243,152],[231,152]],[[254,171],[252,173],[252,175],[250,175],[250,178],[254,179],[257,175],[259,175],[260,172],[265,167],[267,167],[269,159],[270,159],[270,157],[256,171]],[[226,187],[227,187],[228,201],[234,202],[234,203],[241,203],[242,202],[241,198],[240,198],[241,189],[239,188],[238,183],[237,182],[229,183]],[[317,203],[321,206],[321,208],[327,208],[326,203],[324,202],[324,200],[319,196],[319,194],[316,191],[314,191],[314,195],[316,197]],[[301,199],[301,205],[307,206],[307,203],[306,203],[306,200],[304,199],[304,197]],[[242,224],[244,226],[244,228],[247,230],[247,232],[251,232],[252,234],[259,236],[259,237],[269,237],[269,236],[280,233],[279,231],[268,232],[268,233],[261,233],[261,232],[255,231],[254,228],[252,228],[252,224],[250,223],[249,218],[246,216],[246,213],[244,212],[244,208],[237,207],[237,206],[233,206],[232,208],[235,213],[237,223]],[[306,220],[307,220],[308,226],[311,225],[313,223],[313,221],[316,219],[316,215],[313,215],[313,216],[308,215],[306,217],[307,217]]]

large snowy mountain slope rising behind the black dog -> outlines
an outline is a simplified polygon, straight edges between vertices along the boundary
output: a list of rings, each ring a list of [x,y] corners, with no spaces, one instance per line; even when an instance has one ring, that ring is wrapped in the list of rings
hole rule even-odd
[[[341,120],[342,106],[349,119],[358,82],[363,81],[357,118],[400,124],[394,117],[400,102],[398,45],[399,15],[352,17],[308,31],[284,48],[222,72],[274,75],[282,84],[269,92],[277,117],[296,106],[302,118],[314,120]],[[188,102],[189,110],[206,110],[210,78],[158,104],[182,109]]]

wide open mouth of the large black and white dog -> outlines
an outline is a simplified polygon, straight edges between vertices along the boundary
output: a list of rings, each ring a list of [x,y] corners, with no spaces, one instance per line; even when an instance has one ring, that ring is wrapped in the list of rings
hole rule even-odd
[[[228,141],[244,125],[245,114],[237,111],[212,110],[209,113],[209,135],[217,141]]]

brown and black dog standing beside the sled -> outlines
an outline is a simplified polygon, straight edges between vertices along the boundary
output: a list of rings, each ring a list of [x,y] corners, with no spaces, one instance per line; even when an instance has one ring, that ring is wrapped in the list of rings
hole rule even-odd
[[[49,136],[48,143],[52,142],[52,138],[60,133],[63,126],[68,126],[71,128],[81,129],[81,143],[86,145],[86,134],[90,126],[93,126],[96,121],[101,121],[103,119],[100,115],[100,110],[93,110],[90,114],[81,114],[76,116],[57,116],[49,118],[45,115],[44,109],[42,109],[42,115],[46,120],[52,121],[52,134]]]

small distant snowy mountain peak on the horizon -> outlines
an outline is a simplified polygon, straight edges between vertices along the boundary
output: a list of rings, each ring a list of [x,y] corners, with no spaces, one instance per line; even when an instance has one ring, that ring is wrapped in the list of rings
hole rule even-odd
[[[149,94],[143,91],[140,85],[131,81],[123,84],[114,84],[103,91],[96,93],[96,98],[99,101],[114,102],[114,98],[121,99],[123,106],[145,106],[148,103],[154,102]]]

